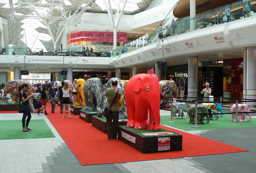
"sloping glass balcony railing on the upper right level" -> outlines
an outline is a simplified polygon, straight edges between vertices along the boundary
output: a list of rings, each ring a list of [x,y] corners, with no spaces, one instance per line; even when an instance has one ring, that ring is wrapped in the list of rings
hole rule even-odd
[[[231,13],[231,16],[227,16],[227,19],[225,17],[226,9],[230,9]],[[149,34],[138,38],[137,40],[114,49],[113,57],[118,56],[119,54],[134,51],[138,48],[142,48],[143,46],[157,42],[163,38],[172,37],[176,34],[179,35],[186,32],[195,31],[215,25],[221,25],[222,23],[232,22],[234,20],[243,19],[244,17],[256,15],[254,14],[254,11],[256,12],[255,0],[249,0],[246,2],[239,0],[226,6],[221,6],[216,9],[196,14],[195,16],[178,18],[174,23],[171,24],[168,21],[174,19],[175,17],[172,16],[172,13],[169,13],[166,19],[163,20],[161,28],[158,28]]]

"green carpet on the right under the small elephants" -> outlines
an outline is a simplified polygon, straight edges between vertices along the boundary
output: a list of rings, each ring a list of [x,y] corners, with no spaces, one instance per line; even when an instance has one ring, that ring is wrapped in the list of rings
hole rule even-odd
[[[192,128],[191,126],[194,126],[193,124],[189,123],[189,118],[185,119],[173,119],[175,122],[168,122],[171,121],[171,116],[161,116],[161,124],[162,125],[169,125],[174,128],[190,131],[190,130],[211,130],[211,129],[223,129],[223,128],[250,128],[250,127],[256,127],[256,119],[252,118],[251,121],[248,121],[249,116],[246,116],[246,122],[238,122],[238,124],[241,125],[232,125],[236,122],[231,121],[232,116],[230,114],[225,114],[222,117],[219,117],[218,119],[210,120],[210,122],[207,124],[206,121],[204,121],[205,124],[199,124],[201,128]]]

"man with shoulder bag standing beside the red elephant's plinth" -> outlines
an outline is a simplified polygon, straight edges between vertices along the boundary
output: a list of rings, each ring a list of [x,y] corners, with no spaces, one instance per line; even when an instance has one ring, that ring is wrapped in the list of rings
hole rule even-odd
[[[108,98],[107,107],[110,108],[107,116],[108,139],[116,139],[117,136],[119,119],[118,100],[121,99],[121,93],[117,91],[117,84],[117,80],[112,80],[112,87],[106,90],[106,97]]]

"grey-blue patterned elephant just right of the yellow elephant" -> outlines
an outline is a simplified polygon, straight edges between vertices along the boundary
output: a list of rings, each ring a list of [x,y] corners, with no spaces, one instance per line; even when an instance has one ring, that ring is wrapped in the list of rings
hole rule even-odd
[[[84,84],[84,98],[85,98],[85,110],[96,111],[97,101],[102,90],[101,79],[98,77],[93,77],[87,79]]]

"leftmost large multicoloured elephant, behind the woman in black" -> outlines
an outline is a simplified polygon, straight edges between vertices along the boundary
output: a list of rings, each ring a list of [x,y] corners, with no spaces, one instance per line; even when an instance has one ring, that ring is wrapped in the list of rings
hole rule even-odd
[[[32,85],[28,81],[23,80],[23,79],[8,80],[6,83],[6,87],[4,88],[3,101],[6,102],[6,95],[8,93],[12,93],[12,103],[20,102],[19,86],[22,85],[23,83],[26,83],[29,86],[26,94],[30,95]]]

